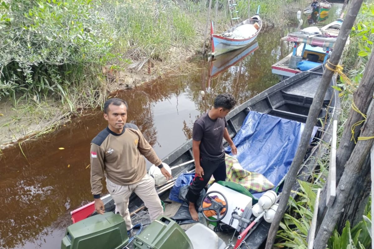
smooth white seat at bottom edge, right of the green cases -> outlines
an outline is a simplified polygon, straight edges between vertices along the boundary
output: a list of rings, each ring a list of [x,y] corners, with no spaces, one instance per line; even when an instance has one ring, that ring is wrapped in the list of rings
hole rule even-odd
[[[201,223],[188,228],[186,234],[194,249],[224,249],[226,247],[226,243],[214,231]]]

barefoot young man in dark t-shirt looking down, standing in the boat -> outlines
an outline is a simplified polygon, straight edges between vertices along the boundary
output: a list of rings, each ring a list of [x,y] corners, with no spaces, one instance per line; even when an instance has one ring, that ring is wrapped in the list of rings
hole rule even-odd
[[[214,176],[216,181],[226,180],[225,151],[223,138],[230,144],[233,155],[236,147],[227,131],[226,115],[236,104],[231,94],[219,94],[214,100],[214,107],[201,115],[193,125],[192,150],[195,159],[195,178],[188,187],[187,200],[193,220],[199,220],[195,203],[201,190]]]

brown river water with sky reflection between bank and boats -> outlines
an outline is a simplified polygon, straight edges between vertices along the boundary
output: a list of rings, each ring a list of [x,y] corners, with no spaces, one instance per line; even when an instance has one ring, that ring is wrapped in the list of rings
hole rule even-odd
[[[333,4],[331,21],[340,15],[342,6]],[[260,33],[253,53],[210,80],[210,64],[196,59],[197,72],[118,93],[128,102],[128,122],[140,128],[163,158],[191,137],[193,122],[211,108],[217,94],[231,93],[240,104],[277,83],[271,65],[291,52],[292,44],[280,38],[294,30]],[[22,144],[22,150],[19,146],[3,150],[0,249],[60,248],[65,228],[71,224],[70,211],[92,201],[90,141],[106,125],[102,112],[94,110],[54,133]]]

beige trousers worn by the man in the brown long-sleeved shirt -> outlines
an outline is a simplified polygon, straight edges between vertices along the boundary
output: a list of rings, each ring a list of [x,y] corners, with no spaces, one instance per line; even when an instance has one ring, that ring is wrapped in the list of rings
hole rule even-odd
[[[118,211],[126,222],[127,230],[132,228],[128,208],[129,197],[132,192],[135,192],[148,208],[151,221],[154,221],[157,217],[163,215],[161,200],[154,187],[154,179],[148,174],[145,174],[138,183],[126,186],[113,183],[107,178],[107,189],[116,203],[116,212]]]

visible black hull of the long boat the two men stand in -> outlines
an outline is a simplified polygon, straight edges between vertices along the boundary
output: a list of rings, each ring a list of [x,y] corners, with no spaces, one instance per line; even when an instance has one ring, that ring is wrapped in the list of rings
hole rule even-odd
[[[228,131],[231,137],[236,136],[239,132],[244,119],[249,111],[257,111],[261,113],[267,113],[273,116],[278,116],[281,118],[291,119],[299,122],[306,122],[307,114],[309,112],[310,105],[313,102],[316,89],[318,89],[321,78],[322,78],[323,68],[322,65],[318,68],[312,69],[311,71],[301,72],[294,77],[288,78],[269,89],[263,91],[257,96],[246,101],[242,105],[238,106],[232,110],[226,119],[228,122]],[[335,85],[334,79],[330,83]],[[315,140],[323,140],[329,143],[331,134],[331,123],[332,118],[335,116],[337,110],[340,107],[338,93],[332,87],[328,88],[325,94],[322,109],[318,115],[319,127]],[[325,120],[327,117],[327,120]],[[321,122],[321,123],[320,123]],[[307,164],[308,167],[302,168],[300,175],[301,180],[307,180],[309,177],[306,172],[313,171],[310,165],[317,165],[316,161],[318,156],[322,155],[319,151],[319,147],[316,145],[315,141],[312,142],[310,149],[307,152]],[[163,162],[169,164],[170,166],[180,165],[182,163],[188,162],[193,159],[192,153],[192,140],[187,141],[182,146],[169,153],[165,158],[162,159]],[[172,175],[174,177],[178,176],[182,172],[189,171],[194,168],[193,163],[184,165],[183,167],[178,167],[172,170]],[[303,178],[304,177],[304,178]],[[160,187],[156,186],[159,191]],[[293,187],[294,190],[298,189],[296,184]],[[161,193],[160,193],[161,192]],[[161,199],[168,196],[168,192],[159,191]],[[296,193],[296,191],[292,192]],[[114,211],[114,202],[111,197],[105,198],[105,211]],[[143,204],[143,202],[135,194],[130,197],[129,210],[132,212],[138,210]],[[166,206],[167,208],[167,206]],[[93,213],[92,215],[94,215]],[[251,230],[251,232],[245,238],[245,243],[251,249],[257,249],[261,246],[267,237],[270,228],[270,223],[261,220],[256,224],[256,226]]]

